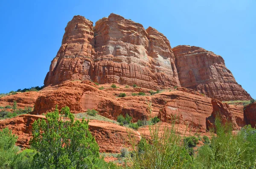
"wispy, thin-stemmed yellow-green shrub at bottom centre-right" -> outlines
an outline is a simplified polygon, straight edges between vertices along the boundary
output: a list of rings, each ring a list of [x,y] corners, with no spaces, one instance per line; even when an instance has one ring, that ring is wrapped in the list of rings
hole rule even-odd
[[[131,151],[133,169],[190,169],[192,157],[184,148],[182,136],[174,124],[159,130],[159,125],[149,125],[150,142],[142,138]]]

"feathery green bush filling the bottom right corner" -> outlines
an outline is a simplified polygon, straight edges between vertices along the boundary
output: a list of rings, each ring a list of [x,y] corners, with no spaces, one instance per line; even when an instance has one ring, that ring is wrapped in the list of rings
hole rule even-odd
[[[256,129],[244,126],[236,135],[232,125],[215,120],[211,143],[198,149],[195,165],[200,169],[252,169],[256,162]]]

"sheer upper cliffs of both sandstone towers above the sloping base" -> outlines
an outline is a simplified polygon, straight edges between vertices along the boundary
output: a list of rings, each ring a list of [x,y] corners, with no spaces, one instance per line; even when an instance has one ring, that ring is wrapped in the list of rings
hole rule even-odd
[[[52,60],[45,86],[92,80],[148,88],[182,86],[218,100],[249,100],[224,60],[195,46],[171,48],[156,29],[110,14],[93,26],[74,16]]]

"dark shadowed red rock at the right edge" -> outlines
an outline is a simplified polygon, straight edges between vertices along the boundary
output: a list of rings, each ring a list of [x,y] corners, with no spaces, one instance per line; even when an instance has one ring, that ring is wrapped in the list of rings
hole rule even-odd
[[[244,117],[247,124],[256,127],[256,103],[244,107]]]

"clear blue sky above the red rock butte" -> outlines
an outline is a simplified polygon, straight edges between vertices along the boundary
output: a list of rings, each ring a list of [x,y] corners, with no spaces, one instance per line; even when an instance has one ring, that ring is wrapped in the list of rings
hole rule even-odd
[[[0,93],[42,86],[74,15],[115,13],[163,33],[171,46],[221,55],[256,98],[256,0],[1,0]]]

